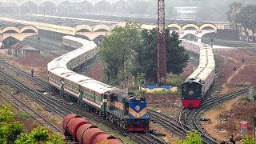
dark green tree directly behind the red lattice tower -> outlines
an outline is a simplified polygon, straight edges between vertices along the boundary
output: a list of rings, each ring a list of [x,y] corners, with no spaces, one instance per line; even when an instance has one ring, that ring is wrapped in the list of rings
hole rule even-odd
[[[137,71],[146,74],[147,82],[156,82],[157,78],[157,42],[158,31],[142,30],[142,46],[136,47]],[[181,74],[183,68],[188,62],[189,55],[185,54],[185,50],[178,40],[178,34],[170,29],[166,29],[166,71],[167,73]]]

